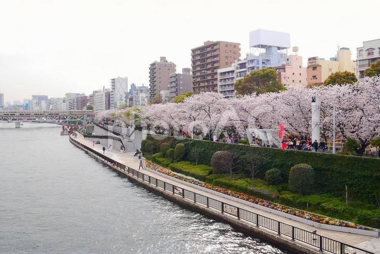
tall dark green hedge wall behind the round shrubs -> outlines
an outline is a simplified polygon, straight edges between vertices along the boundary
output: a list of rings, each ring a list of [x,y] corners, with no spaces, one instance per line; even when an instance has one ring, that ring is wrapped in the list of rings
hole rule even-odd
[[[150,139],[153,138],[150,137]],[[375,203],[375,193],[380,189],[380,160],[376,158],[241,146],[191,139],[177,139],[175,142],[185,143],[186,154],[184,159],[192,162],[194,161],[189,156],[189,151],[195,146],[202,148],[204,152],[199,158],[199,163],[205,165],[211,165],[211,156],[216,151],[230,151],[238,158],[242,158],[250,151],[262,154],[270,160],[256,174],[256,177],[260,179],[264,179],[266,171],[276,167],[282,170],[283,181],[287,182],[292,166],[307,163],[313,167],[315,172],[313,194],[329,193],[333,196],[341,196],[345,193],[345,186],[347,185],[353,199]],[[245,168],[244,161],[239,160],[237,170],[243,172]]]

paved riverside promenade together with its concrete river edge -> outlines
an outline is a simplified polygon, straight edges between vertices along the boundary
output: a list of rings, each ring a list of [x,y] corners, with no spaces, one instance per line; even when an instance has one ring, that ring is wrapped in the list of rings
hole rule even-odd
[[[73,136],[71,136],[73,138]],[[103,154],[102,147],[103,145],[93,145],[93,142],[91,140],[85,139],[82,135],[78,135],[77,138],[73,138],[74,141],[79,142],[80,144],[84,145],[85,147],[88,147],[90,149],[93,149],[94,151]],[[274,242],[280,246],[286,247],[288,249],[291,249],[296,252],[303,252],[303,253],[321,253],[321,250],[319,249],[318,243],[313,243],[314,241],[318,242],[317,238],[310,238],[310,233],[314,230],[317,230],[317,234],[323,237],[327,237],[332,240],[339,241],[341,243],[345,243],[347,245],[355,246],[358,248],[362,248],[363,250],[368,250],[370,252],[350,248],[349,246],[346,246],[344,248],[345,253],[380,253],[380,238],[379,237],[373,237],[373,236],[365,236],[365,235],[358,235],[358,234],[352,234],[352,233],[345,233],[345,232],[338,232],[338,231],[332,231],[332,230],[326,230],[326,229],[319,229],[315,228],[311,225],[307,225],[301,222],[297,222],[291,219],[287,219],[284,217],[281,217],[279,215],[275,215],[272,213],[269,213],[268,211],[263,211],[254,207],[251,207],[249,205],[233,201],[231,199],[225,198],[221,195],[215,195],[211,190],[208,190],[206,188],[202,188],[196,185],[192,185],[189,183],[185,183],[183,181],[180,181],[178,179],[163,175],[161,173],[158,173],[156,171],[153,171],[149,168],[144,168],[143,170],[140,170],[139,172],[148,176],[149,177],[149,183],[146,183],[145,181],[136,178],[136,175],[131,173],[128,173],[126,171],[122,171],[120,168],[116,167],[115,165],[112,165],[110,163],[105,162],[103,159],[101,159],[99,156],[95,156],[95,154],[89,153],[90,155],[96,157],[100,161],[103,161],[104,163],[108,164],[111,166],[114,170],[120,172],[121,174],[127,176],[131,180],[140,183],[141,185],[144,185],[145,187],[159,192],[160,194],[168,197],[169,199],[172,199],[173,201],[180,203],[182,205],[185,205],[189,208],[195,209],[200,211],[203,214],[206,214],[208,216],[214,217],[216,219],[223,220],[243,231],[246,231],[247,233],[250,233],[252,235],[258,236],[260,238],[267,239],[268,241]],[[123,154],[120,154],[119,151],[114,150],[114,149],[106,149],[104,155],[111,160],[117,161],[118,163],[124,164],[125,166],[128,166],[130,168],[133,168],[134,170],[138,170],[139,167],[139,159],[137,157],[134,157],[134,151],[126,152]],[[138,174],[139,175],[139,174]],[[137,175],[137,176],[138,176]],[[225,204],[229,204],[232,206],[239,207],[241,209],[251,211],[252,213],[258,214],[260,216],[270,218],[273,220],[276,220],[278,222],[285,223],[287,225],[294,226],[298,229],[302,229],[304,231],[309,231],[306,232],[307,234],[305,235],[305,239],[302,240],[302,237],[298,240],[292,240],[291,237],[288,237],[284,234],[277,234],[276,232],[272,230],[265,229],[265,226],[260,226],[257,227],[253,223],[249,223],[245,220],[242,219],[237,219],[236,217],[233,217],[229,215],[228,213],[224,212],[222,213],[219,210],[210,208],[208,206],[202,205],[198,202],[194,202],[193,200],[190,200],[185,197],[181,197],[179,195],[174,194],[174,188],[173,188],[173,193],[170,193],[168,191],[165,191],[159,186],[157,186],[157,181],[156,185],[150,183],[150,178],[152,179],[157,179],[162,182],[168,183],[169,185],[176,186],[182,189],[185,189],[189,192],[193,192],[196,194],[199,194],[201,196],[206,196],[209,197],[212,200],[218,200],[220,202],[223,202]],[[195,195],[195,194],[194,194]],[[239,209],[238,209],[239,210]],[[304,234],[304,233],[303,233]],[[304,241],[304,242],[302,242]],[[308,243],[308,244],[307,244]],[[331,243],[324,243],[324,244],[331,244]],[[314,246],[313,246],[314,245]],[[343,249],[341,247],[331,247],[330,248],[332,253],[343,253]],[[324,251],[326,252],[326,251]]]

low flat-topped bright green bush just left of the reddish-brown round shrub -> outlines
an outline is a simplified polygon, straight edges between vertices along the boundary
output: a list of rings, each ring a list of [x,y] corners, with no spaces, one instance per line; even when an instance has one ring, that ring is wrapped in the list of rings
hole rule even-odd
[[[185,176],[194,177],[202,182],[205,177],[212,173],[212,167],[208,165],[196,165],[189,161],[179,161],[170,164],[170,170],[183,174]]]

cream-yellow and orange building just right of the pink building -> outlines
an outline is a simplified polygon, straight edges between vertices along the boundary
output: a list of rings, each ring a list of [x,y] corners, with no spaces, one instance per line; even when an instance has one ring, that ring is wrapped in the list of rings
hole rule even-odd
[[[319,57],[308,59],[308,85],[320,86],[326,78],[337,71],[349,71],[356,75],[356,61],[351,60],[349,48],[340,48],[336,57],[325,60]]]

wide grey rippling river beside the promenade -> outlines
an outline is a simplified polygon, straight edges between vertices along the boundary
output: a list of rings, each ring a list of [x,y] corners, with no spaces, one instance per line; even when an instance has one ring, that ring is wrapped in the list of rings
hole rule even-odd
[[[130,182],[59,132],[0,123],[0,253],[287,253]]]

